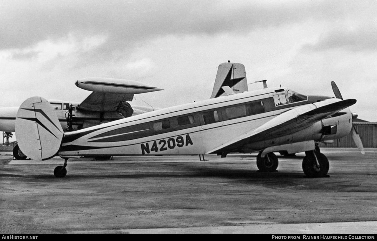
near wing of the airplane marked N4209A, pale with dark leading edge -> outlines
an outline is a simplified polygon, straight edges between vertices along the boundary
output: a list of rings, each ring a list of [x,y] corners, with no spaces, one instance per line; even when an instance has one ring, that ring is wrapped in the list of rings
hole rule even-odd
[[[354,99],[328,99],[296,107],[278,115],[257,129],[250,130],[245,134],[210,150],[206,154],[232,152],[248,143],[283,137],[298,132],[355,103],[356,100]]]

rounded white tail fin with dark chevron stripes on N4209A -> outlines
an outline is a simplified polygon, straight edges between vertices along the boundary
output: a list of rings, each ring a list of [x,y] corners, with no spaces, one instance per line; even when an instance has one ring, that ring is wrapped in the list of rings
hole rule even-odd
[[[63,129],[54,109],[41,97],[28,98],[21,104],[15,132],[22,152],[34,160],[54,157],[63,140]]]

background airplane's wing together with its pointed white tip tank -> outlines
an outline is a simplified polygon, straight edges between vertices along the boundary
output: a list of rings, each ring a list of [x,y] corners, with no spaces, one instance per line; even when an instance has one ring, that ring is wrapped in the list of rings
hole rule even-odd
[[[134,94],[162,90],[134,80],[112,78],[84,78],[77,80],[75,85],[93,91],[78,108],[100,112],[115,111],[120,102],[132,101]]]

